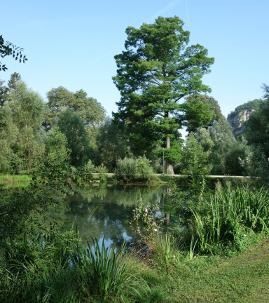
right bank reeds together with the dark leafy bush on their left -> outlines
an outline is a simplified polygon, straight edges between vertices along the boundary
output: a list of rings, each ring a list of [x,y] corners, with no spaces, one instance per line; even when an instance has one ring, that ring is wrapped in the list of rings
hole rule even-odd
[[[201,185],[202,187],[202,185]],[[225,188],[216,183],[216,191],[202,196],[172,186],[168,203],[179,216],[179,237],[185,245],[197,240],[197,253],[219,254],[243,251],[254,234],[268,233],[268,191],[239,185]]]

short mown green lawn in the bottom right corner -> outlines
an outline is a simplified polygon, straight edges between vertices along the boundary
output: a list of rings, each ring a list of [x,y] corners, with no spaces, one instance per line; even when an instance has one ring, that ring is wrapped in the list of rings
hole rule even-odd
[[[269,240],[197,271],[168,278],[164,302],[269,302]]]

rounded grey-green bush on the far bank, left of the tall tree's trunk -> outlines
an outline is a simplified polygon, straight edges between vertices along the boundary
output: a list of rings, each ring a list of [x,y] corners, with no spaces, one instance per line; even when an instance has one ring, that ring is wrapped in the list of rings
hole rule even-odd
[[[153,168],[151,161],[145,156],[137,158],[124,158],[117,161],[115,175],[118,180],[127,182],[141,180],[149,181],[153,179]]]

